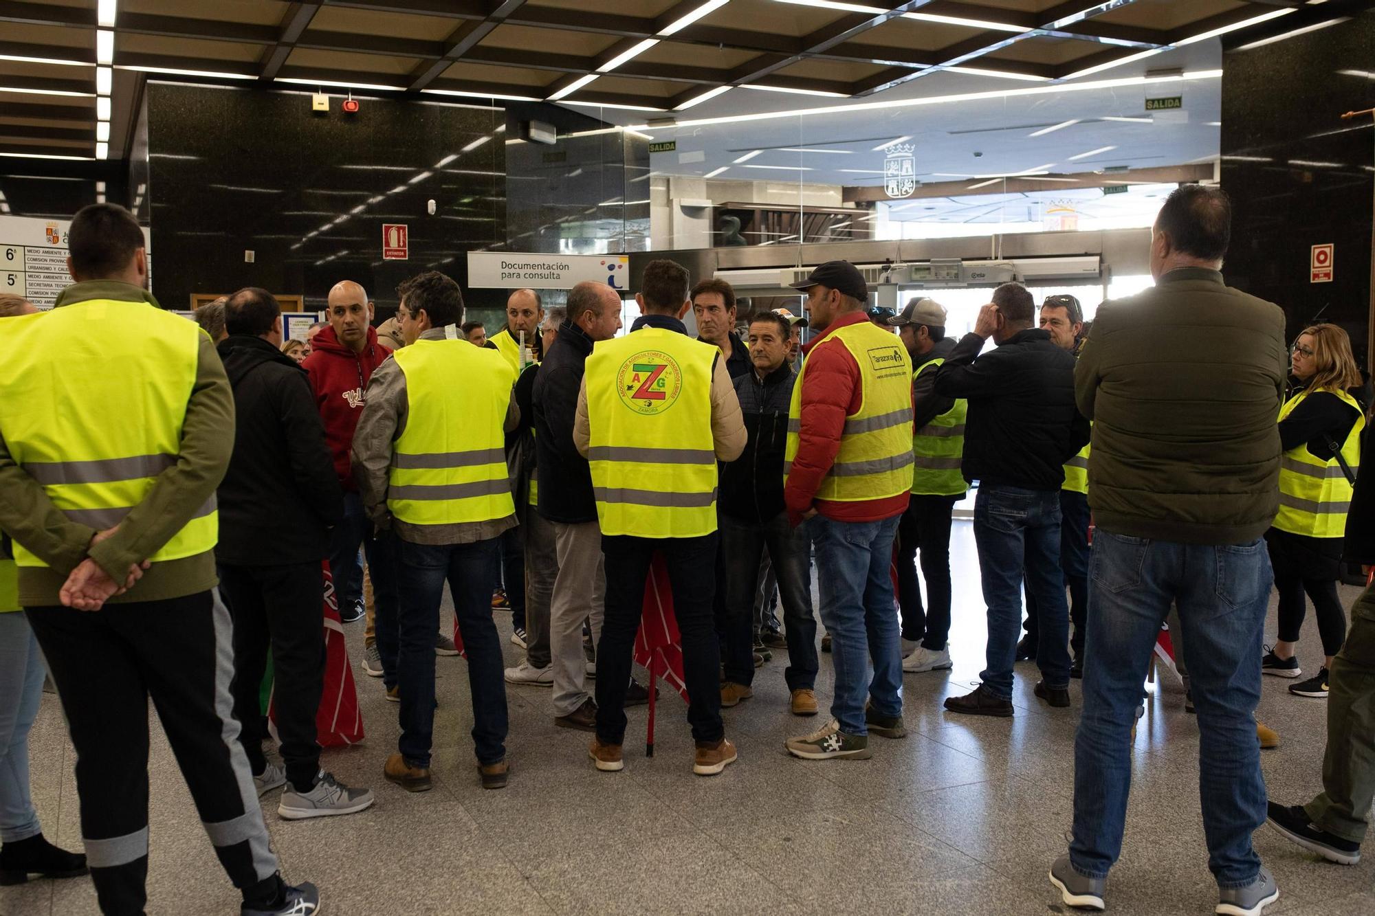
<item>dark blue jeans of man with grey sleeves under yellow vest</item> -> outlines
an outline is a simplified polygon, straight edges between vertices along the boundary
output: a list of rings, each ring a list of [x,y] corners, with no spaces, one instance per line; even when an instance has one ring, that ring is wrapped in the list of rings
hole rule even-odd
[[[400,651],[396,670],[402,692],[397,750],[412,766],[429,766],[434,732],[434,633],[448,580],[454,618],[468,653],[477,762],[496,763],[506,756],[506,681],[502,641],[492,622],[492,589],[500,565],[498,538],[455,545],[397,538],[397,547]]]

